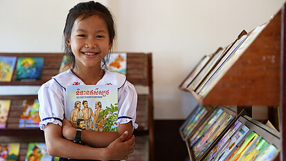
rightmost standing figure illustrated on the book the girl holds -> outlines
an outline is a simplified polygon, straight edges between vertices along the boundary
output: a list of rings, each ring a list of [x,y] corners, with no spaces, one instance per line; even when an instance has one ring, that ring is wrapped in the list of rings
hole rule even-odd
[[[95,106],[96,111],[94,112],[94,117],[91,129],[93,129],[93,126],[95,126],[95,131],[102,131],[105,127],[104,119],[103,117],[99,117],[100,113],[102,113],[102,104],[101,102],[96,102]],[[100,120],[100,121],[99,121]]]

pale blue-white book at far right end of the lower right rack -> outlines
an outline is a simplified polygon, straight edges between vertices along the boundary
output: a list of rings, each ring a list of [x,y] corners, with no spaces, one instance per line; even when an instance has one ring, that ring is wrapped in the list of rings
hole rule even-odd
[[[265,160],[265,161],[271,161],[276,158],[278,155],[279,150],[272,144],[269,144],[260,155],[256,158],[256,160]]]

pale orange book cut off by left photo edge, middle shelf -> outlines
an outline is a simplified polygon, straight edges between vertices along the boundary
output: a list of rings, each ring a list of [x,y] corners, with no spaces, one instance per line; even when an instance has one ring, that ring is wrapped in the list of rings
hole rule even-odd
[[[0,129],[6,128],[11,100],[0,100]]]

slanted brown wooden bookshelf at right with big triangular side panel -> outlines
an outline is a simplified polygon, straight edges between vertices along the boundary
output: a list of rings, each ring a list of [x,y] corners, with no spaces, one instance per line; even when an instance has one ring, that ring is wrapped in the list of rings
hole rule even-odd
[[[263,27],[262,27],[263,26]],[[230,59],[234,61],[226,61],[222,67],[218,70],[215,67],[211,68],[214,71],[214,77],[210,79],[208,73],[204,75],[204,79],[212,82],[211,85],[208,84],[207,92],[202,93],[202,89],[198,90],[198,88],[190,88],[192,82],[187,82],[188,77],[192,75],[193,71],[196,70],[197,66],[207,66],[207,64],[202,64],[199,62],[195,69],[188,75],[188,77],[181,83],[180,87],[184,91],[189,91],[193,94],[197,102],[203,106],[237,106],[236,117],[239,117],[239,111],[249,111],[249,116],[251,116],[251,106],[267,106],[270,117],[276,117],[279,115],[277,112],[278,106],[280,106],[280,133],[269,132],[267,128],[263,126],[263,124],[256,124],[258,127],[254,127],[250,124],[255,124],[255,120],[248,119],[248,122],[245,121],[245,124],[251,126],[251,129],[256,129],[256,131],[260,131],[258,129],[263,129],[263,131],[268,131],[269,136],[265,136],[267,140],[271,140],[271,137],[276,138],[273,144],[278,147],[280,151],[280,160],[285,160],[286,152],[286,142],[285,142],[285,118],[283,113],[285,112],[285,5],[283,8],[276,13],[273,19],[271,19],[268,23],[263,24],[261,27],[262,30],[258,33],[255,39],[247,45],[244,50],[240,50],[241,54],[239,56],[230,56]],[[256,28],[257,29],[257,28]],[[222,50],[225,50],[225,53],[228,53],[231,48],[233,48],[233,44],[235,42],[240,41],[244,35],[247,35],[247,38],[250,37],[251,34],[256,32],[256,29],[250,31],[249,33],[240,33],[238,39],[236,39],[230,46],[226,46]],[[241,45],[243,46],[243,44]],[[239,49],[238,49],[239,50]],[[235,52],[238,52],[235,50]],[[239,52],[238,52],[239,53]],[[215,55],[218,54],[218,51],[215,52]],[[204,56],[206,57],[206,56]],[[213,55],[211,55],[213,57]],[[221,61],[222,59],[220,59]],[[217,66],[217,64],[215,64]],[[204,70],[199,69],[200,72]],[[199,74],[196,74],[197,76]],[[196,79],[196,77],[194,79]],[[202,82],[199,82],[197,86],[204,85],[204,79]],[[184,85],[184,86],[183,86]],[[276,110],[275,110],[276,109]],[[276,111],[276,112],[273,112]],[[246,116],[247,117],[247,116]],[[247,122],[247,123],[246,123]],[[252,123],[249,123],[252,122]],[[278,126],[276,126],[278,128]],[[197,127],[195,128],[197,130]],[[265,132],[265,133],[268,133]],[[263,133],[263,132],[259,132]],[[281,135],[280,135],[281,134]],[[193,135],[193,133],[190,133]],[[186,138],[182,137],[183,140]],[[190,138],[190,136],[188,137]],[[270,139],[269,139],[270,138]],[[218,140],[215,140],[217,142]],[[280,146],[280,142],[282,141],[282,146]],[[271,141],[269,141],[271,142]],[[188,145],[189,143],[186,142]],[[212,145],[212,148],[215,144]],[[188,151],[193,151],[191,147],[188,147]],[[204,157],[209,153],[206,151],[204,153]],[[202,158],[195,158],[192,153],[190,153],[191,160],[202,160]],[[275,160],[279,160],[279,157],[276,157]]]

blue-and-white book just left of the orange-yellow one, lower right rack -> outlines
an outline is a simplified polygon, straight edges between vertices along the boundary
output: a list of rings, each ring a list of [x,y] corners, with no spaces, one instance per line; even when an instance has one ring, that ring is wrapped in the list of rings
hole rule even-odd
[[[240,129],[233,135],[233,137],[231,137],[231,139],[229,139],[225,143],[224,148],[222,148],[222,151],[220,151],[220,153],[218,153],[218,155],[216,155],[216,157],[214,158],[215,161],[225,160],[226,157],[229,155],[229,153],[233,151],[235,146],[238,145],[240,140],[244,138],[244,135],[246,135],[248,131],[249,131],[249,128],[245,125],[242,125]]]

